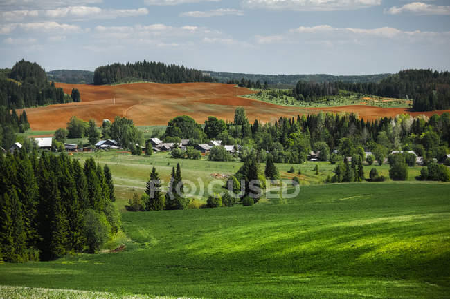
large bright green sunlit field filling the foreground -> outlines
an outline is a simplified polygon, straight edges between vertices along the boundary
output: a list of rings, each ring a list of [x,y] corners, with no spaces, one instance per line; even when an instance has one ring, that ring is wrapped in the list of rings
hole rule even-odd
[[[321,184],[287,204],[125,212],[125,251],[0,264],[0,284],[190,298],[448,298],[449,191],[438,182]]]

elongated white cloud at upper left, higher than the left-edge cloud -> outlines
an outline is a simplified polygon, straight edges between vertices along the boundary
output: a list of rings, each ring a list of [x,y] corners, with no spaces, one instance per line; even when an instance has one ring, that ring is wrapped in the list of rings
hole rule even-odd
[[[147,8],[138,8],[131,10],[116,10],[98,8],[96,6],[69,6],[64,8],[56,8],[54,10],[46,10],[46,17],[51,18],[87,18],[87,19],[115,19],[116,17],[135,17],[148,15]]]

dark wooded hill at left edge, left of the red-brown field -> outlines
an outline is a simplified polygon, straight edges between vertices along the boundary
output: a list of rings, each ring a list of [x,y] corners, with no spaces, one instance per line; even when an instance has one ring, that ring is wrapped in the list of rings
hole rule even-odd
[[[45,70],[22,59],[12,69],[0,70],[0,106],[9,109],[71,102],[62,88],[47,80]]]

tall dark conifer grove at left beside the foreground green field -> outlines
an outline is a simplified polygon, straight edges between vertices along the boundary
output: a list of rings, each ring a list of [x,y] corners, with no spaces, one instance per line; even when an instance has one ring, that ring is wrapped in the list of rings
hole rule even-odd
[[[62,153],[0,154],[0,244],[7,262],[95,252],[120,230],[108,166]]]

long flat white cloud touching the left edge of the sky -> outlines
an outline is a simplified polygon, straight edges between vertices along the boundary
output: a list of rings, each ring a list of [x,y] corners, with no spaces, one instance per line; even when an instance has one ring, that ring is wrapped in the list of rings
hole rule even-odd
[[[0,25],[0,34],[6,35],[11,33],[17,28],[21,28],[26,31],[39,31],[39,32],[82,32],[82,28],[76,25],[70,25],[57,22],[36,22],[36,23],[9,23]]]

